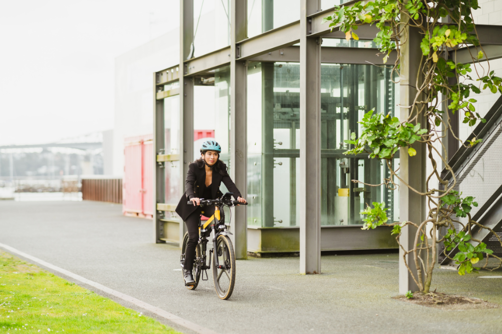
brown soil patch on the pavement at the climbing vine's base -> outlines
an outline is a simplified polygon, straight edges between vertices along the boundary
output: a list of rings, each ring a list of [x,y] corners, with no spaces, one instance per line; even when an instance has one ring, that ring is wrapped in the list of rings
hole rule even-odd
[[[502,308],[502,305],[487,300],[440,292],[429,292],[426,294],[415,292],[413,298],[410,299],[403,295],[393,297],[393,299],[443,310]]]

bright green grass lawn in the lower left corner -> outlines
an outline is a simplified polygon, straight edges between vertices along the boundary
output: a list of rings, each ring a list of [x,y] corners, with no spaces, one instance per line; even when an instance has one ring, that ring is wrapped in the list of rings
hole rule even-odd
[[[0,333],[179,333],[0,250]]]

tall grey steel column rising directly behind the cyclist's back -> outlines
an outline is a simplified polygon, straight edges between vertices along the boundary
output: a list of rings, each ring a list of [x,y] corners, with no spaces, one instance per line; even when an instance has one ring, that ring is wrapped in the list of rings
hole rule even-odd
[[[188,164],[193,159],[193,78],[188,74],[188,64],[184,61],[190,54],[193,40],[193,0],[180,0],[180,197],[185,192]],[[180,243],[186,232],[180,223]]]

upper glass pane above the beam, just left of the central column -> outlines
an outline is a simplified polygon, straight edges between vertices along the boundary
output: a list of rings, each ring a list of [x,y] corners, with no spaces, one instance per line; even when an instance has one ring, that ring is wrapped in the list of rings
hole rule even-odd
[[[257,36],[298,20],[300,0],[247,0],[247,37]]]

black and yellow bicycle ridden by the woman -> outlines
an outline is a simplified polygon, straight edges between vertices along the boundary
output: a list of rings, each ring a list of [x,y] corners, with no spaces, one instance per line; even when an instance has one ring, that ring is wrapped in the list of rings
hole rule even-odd
[[[195,290],[200,280],[208,280],[207,270],[211,269],[212,256],[214,289],[216,290],[216,294],[220,299],[230,298],[233,291],[233,286],[235,284],[235,253],[233,250],[232,241],[228,237],[229,234],[232,234],[229,231],[231,216],[228,220],[227,227],[227,225],[225,225],[225,213],[223,212],[223,208],[231,208],[236,206],[237,204],[247,205],[247,203],[232,201],[232,195],[233,193],[226,193],[220,199],[200,200],[201,207],[214,205],[216,206],[216,208],[214,210],[214,214],[205,223],[202,224],[202,222],[199,220],[199,242],[195,250],[195,261],[192,269],[192,275],[195,280],[195,284],[185,284],[187,289]],[[189,201],[188,204],[193,203]],[[210,228],[208,229],[209,226]],[[209,261],[207,262],[206,249],[211,231],[214,231],[214,237],[212,240],[213,249],[209,250]],[[183,237],[183,246],[181,249],[180,258],[180,264],[182,268],[185,262],[185,250],[187,243],[188,232],[185,233],[185,236]],[[206,279],[204,279],[204,273],[206,275]],[[225,276],[223,276],[223,273],[225,274]]]

